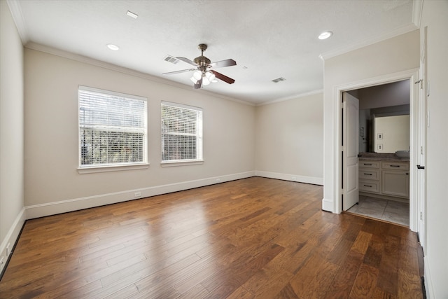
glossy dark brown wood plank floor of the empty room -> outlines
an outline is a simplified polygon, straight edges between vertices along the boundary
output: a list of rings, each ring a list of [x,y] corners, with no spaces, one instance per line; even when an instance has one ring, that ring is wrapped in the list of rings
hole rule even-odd
[[[0,298],[422,298],[417,240],[254,177],[27,221]]]

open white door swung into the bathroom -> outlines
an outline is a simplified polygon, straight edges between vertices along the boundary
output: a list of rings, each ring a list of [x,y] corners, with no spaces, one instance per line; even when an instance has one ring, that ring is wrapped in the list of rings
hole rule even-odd
[[[359,101],[347,92],[342,94],[342,209],[358,202]]]

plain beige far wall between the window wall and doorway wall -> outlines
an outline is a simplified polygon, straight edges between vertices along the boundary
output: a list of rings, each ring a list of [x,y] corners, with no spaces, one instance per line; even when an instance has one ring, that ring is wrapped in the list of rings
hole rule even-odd
[[[323,94],[257,106],[258,176],[323,184]]]

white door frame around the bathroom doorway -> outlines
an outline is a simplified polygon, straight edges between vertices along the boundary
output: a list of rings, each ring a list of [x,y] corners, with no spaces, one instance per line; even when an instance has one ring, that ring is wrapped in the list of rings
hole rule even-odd
[[[342,173],[342,163],[340,157],[342,151],[342,92],[403,80],[409,80],[409,228],[415,232],[418,230],[417,214],[419,204],[416,190],[418,181],[415,166],[417,161],[417,130],[421,130],[421,128],[424,127],[424,124],[421,125],[418,123],[419,84],[414,84],[416,81],[419,81],[419,69],[409,69],[407,71],[401,71],[395,74],[387,74],[384,76],[367,78],[362,81],[354,81],[344,85],[335,86],[336,103],[333,111],[333,128],[335,134],[335,144],[333,145],[333,161],[335,163],[333,168],[333,177],[335,178],[333,198],[335,200],[333,200],[333,211],[335,211],[335,213],[342,212],[342,178],[340,175]]]

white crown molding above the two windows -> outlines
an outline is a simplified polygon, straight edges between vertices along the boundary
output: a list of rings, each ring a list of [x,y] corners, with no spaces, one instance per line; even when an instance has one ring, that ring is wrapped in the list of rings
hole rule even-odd
[[[51,54],[51,55],[56,55],[56,56],[59,56],[59,57],[64,57],[64,58],[67,58],[69,60],[74,60],[74,61],[77,61],[77,62],[83,62],[83,63],[86,63],[86,64],[93,65],[95,67],[102,67],[104,69],[109,69],[111,71],[116,71],[116,72],[121,73],[121,74],[135,76],[137,78],[144,78],[144,79],[149,80],[149,81],[153,81],[153,82],[162,83],[162,84],[165,84],[165,85],[174,86],[175,88],[181,88],[183,90],[188,90],[190,92],[200,92],[200,93],[202,93],[204,95],[210,95],[212,97],[218,97],[220,99],[227,99],[229,101],[238,102],[240,104],[246,104],[248,106],[255,106],[254,103],[246,102],[244,100],[237,99],[237,98],[234,98],[234,97],[226,97],[225,95],[220,95],[220,94],[214,93],[214,92],[209,92],[207,90],[204,90],[204,88],[199,88],[199,89],[195,90],[195,89],[191,88],[190,85],[185,85],[185,84],[177,83],[177,82],[174,82],[174,81],[169,81],[167,79],[160,78],[160,77],[157,77],[157,76],[153,76],[153,75],[150,75],[150,74],[146,74],[146,73],[143,73],[141,71],[134,71],[133,69],[127,69],[125,67],[119,67],[116,64],[111,64],[109,62],[103,62],[101,60],[95,60],[95,59],[90,58],[90,57],[85,57],[85,56],[82,56],[82,55],[69,53],[69,52],[66,52],[64,50],[59,50],[59,49],[56,49],[56,48],[43,46],[43,45],[38,44],[38,43],[33,43],[33,42],[26,43],[25,44],[25,48],[28,48],[28,49],[31,49],[31,50],[40,51],[40,52],[43,52],[43,53],[48,53],[48,54]]]

